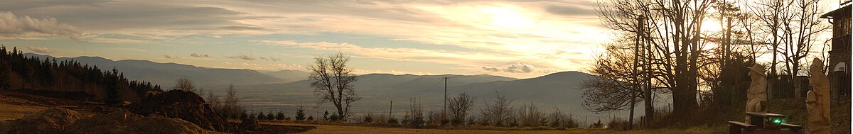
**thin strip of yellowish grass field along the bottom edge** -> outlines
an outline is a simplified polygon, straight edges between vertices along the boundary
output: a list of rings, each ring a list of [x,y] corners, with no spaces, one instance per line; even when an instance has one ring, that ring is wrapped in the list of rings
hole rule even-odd
[[[281,123],[281,122],[262,122],[262,124],[285,125],[285,126],[316,126],[316,129],[302,132],[305,134],[312,133],[348,133],[348,134],[378,134],[378,133],[440,133],[440,134],[456,134],[456,133],[477,133],[477,134],[503,134],[503,133],[529,133],[529,134],[703,134],[703,133],[725,133],[726,128],[723,127],[693,127],[683,130],[675,129],[659,129],[659,130],[644,130],[644,131],[609,131],[596,129],[575,129],[567,131],[488,131],[488,130],[439,130],[439,129],[409,129],[409,128],[391,128],[391,127],[371,127],[371,126],[335,126],[335,125],[316,125],[316,124],[296,124],[296,123]]]

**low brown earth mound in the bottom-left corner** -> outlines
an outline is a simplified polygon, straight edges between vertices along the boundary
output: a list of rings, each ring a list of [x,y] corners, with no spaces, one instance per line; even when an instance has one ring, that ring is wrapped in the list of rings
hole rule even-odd
[[[74,121],[83,119],[85,116],[77,111],[50,108],[38,114],[26,114],[19,120],[9,122],[5,131],[0,133],[61,133],[60,131]]]

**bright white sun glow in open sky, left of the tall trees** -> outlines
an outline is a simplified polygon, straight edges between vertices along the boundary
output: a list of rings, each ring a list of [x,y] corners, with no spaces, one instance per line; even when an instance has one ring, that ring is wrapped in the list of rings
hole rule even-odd
[[[488,16],[490,25],[502,28],[519,29],[534,24],[529,17],[519,13],[518,9],[513,7],[481,8],[480,12]]]

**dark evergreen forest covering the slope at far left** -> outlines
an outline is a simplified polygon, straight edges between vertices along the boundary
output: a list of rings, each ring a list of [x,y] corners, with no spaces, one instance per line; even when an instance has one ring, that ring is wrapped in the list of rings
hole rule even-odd
[[[119,70],[26,57],[17,48],[10,52],[6,47],[0,47],[0,90],[83,92],[91,101],[105,103],[137,102],[145,92],[162,91],[147,81],[127,80]]]

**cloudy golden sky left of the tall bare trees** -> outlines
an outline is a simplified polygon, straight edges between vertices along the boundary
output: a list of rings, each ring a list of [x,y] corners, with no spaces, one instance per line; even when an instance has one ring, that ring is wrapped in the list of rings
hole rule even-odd
[[[0,44],[208,68],[305,70],[345,53],[357,74],[585,71],[606,42],[595,0],[5,0]]]

